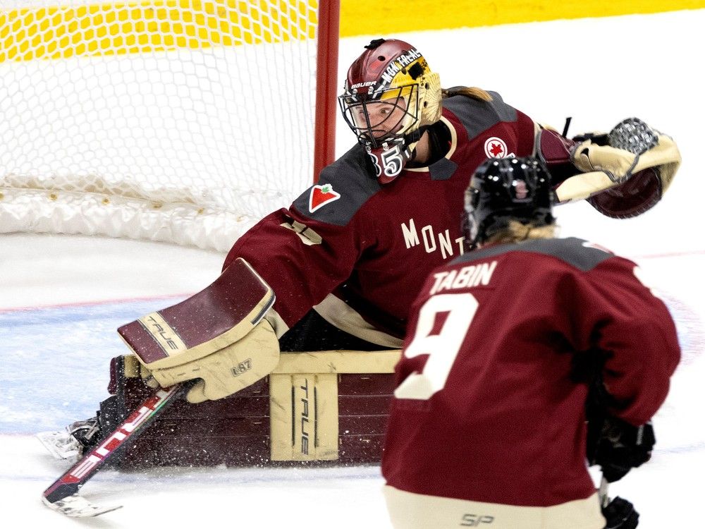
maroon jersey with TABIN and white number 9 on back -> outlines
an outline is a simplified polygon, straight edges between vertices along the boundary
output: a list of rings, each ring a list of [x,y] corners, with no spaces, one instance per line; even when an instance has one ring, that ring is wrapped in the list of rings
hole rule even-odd
[[[566,238],[488,246],[434,270],[396,367],[387,484],[515,506],[594,494],[576,355],[605,355],[611,412],[633,425],[661,406],[680,358],[635,266]]]

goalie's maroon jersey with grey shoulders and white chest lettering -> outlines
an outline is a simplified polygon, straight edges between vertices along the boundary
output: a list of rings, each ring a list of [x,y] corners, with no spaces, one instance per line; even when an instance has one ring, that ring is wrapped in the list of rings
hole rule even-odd
[[[448,154],[405,169],[392,183],[376,180],[355,145],[289,209],[240,237],[225,266],[247,260],[274,289],[274,309],[288,326],[334,293],[377,329],[402,338],[427,274],[462,253],[460,213],[474,170],[487,157],[532,154],[533,121],[492,95],[492,102],[444,99]]]

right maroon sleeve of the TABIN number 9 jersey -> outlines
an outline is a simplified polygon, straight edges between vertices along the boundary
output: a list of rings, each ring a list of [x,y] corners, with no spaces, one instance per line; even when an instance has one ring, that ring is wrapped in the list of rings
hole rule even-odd
[[[577,277],[574,306],[576,345],[592,339],[605,355],[603,382],[617,401],[612,413],[642,425],[666,399],[680,347],[666,305],[637,274],[633,262],[606,260]]]

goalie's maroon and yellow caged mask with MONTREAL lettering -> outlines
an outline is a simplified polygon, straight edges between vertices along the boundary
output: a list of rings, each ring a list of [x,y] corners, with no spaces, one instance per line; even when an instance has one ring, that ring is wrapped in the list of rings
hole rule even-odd
[[[338,102],[377,178],[388,183],[412,159],[426,128],[441,118],[441,81],[407,42],[376,39],[365,48],[348,69]]]

